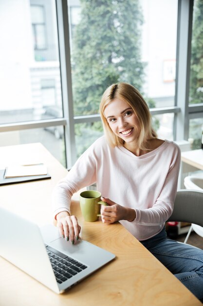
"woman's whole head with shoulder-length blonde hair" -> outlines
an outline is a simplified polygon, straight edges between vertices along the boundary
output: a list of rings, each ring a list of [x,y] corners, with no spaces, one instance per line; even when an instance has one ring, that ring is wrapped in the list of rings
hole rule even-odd
[[[149,139],[157,138],[148,105],[139,90],[130,84],[121,82],[108,87],[99,109],[111,147],[124,146],[136,155],[139,150],[148,150]]]

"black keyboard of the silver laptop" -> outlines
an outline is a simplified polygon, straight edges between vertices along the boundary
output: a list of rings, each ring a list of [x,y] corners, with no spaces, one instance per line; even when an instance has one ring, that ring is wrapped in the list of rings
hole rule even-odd
[[[62,284],[87,268],[83,263],[77,262],[70,256],[55,250],[51,246],[45,246],[58,284]]]

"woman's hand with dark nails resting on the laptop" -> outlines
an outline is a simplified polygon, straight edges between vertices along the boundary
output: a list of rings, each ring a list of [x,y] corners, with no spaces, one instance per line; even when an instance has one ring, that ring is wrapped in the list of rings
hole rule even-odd
[[[74,240],[79,239],[79,233],[81,230],[80,225],[77,222],[75,216],[70,216],[68,212],[63,211],[56,215],[57,228],[60,235],[67,241],[71,241],[74,244]]]

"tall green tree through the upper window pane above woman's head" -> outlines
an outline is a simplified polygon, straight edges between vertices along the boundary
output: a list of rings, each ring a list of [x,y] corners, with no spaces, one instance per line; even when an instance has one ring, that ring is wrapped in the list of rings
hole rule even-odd
[[[142,91],[143,15],[138,0],[80,0],[73,33],[74,114],[98,113],[104,90],[127,82]]]

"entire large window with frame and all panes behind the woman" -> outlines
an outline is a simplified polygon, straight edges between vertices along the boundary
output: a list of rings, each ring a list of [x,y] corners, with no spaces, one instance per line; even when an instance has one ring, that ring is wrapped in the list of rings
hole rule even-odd
[[[201,0],[0,1],[0,145],[40,141],[70,168],[103,134],[103,91],[124,81],[144,95],[160,138],[198,148],[202,9]]]

